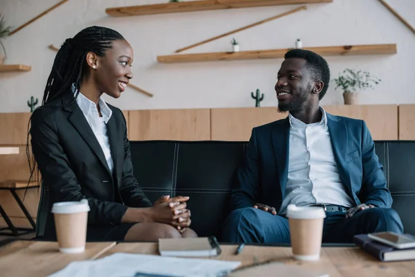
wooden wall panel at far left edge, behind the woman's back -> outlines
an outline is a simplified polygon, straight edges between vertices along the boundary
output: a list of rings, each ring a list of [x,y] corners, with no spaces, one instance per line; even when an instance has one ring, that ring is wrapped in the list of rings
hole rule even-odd
[[[0,113],[0,145],[26,145],[31,113]]]

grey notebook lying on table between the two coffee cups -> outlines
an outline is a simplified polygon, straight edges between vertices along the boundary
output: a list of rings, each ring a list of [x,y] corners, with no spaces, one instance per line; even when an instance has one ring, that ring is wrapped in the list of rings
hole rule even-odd
[[[210,257],[218,256],[221,247],[215,237],[165,238],[158,240],[160,256]]]

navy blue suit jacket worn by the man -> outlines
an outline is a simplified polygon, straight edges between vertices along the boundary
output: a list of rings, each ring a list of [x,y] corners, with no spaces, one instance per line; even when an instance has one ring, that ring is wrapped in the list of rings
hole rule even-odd
[[[390,208],[391,193],[365,121],[326,115],[344,190],[356,205],[365,203]],[[288,179],[289,136],[288,117],[252,129],[232,188],[232,210],[261,203],[279,211]]]

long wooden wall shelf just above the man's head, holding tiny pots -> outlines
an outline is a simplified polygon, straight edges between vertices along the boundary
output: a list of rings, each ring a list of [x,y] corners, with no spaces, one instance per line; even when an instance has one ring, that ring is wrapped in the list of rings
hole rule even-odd
[[[322,56],[335,55],[385,55],[395,54],[396,44],[372,44],[372,45],[349,45],[349,46],[324,46],[308,47],[306,50],[313,51]],[[254,60],[254,59],[277,59],[284,57],[290,49],[271,49],[257,51],[197,53],[181,55],[158,56],[158,62],[210,62],[219,60]]]

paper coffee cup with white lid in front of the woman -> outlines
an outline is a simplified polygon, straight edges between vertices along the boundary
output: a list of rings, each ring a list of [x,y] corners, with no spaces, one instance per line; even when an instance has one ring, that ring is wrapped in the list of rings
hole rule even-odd
[[[88,200],[80,202],[58,202],[53,204],[55,229],[59,251],[82,253],[85,251],[86,224],[89,212]]]

